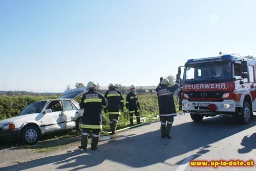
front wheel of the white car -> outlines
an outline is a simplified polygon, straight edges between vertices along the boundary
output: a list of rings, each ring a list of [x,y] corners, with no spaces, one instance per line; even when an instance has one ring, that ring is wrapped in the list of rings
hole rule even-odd
[[[38,141],[39,135],[36,127],[28,126],[22,132],[22,142],[25,144],[34,144]]]

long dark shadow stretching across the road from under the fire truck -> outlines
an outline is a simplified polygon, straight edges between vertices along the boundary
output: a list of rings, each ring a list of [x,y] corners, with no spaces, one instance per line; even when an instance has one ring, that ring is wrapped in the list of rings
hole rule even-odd
[[[178,118],[176,118],[178,119]],[[173,157],[198,149],[195,157],[209,152],[210,144],[237,134],[255,126],[256,119],[248,125],[236,125],[229,117],[217,116],[206,118],[201,123],[193,121],[176,125],[172,128],[172,139],[160,138],[160,130],[146,132],[141,135],[130,135],[122,139],[113,139],[102,145],[98,150],[55,155],[2,168],[3,170],[22,170],[34,167],[44,167],[53,164],[52,169],[79,170],[101,164],[105,160],[119,162],[131,167],[144,167],[156,163],[165,163]],[[150,125],[146,126],[150,127]],[[160,125],[159,125],[160,127]],[[243,140],[246,152],[253,148],[249,141],[255,140],[255,133]],[[239,143],[239,142],[238,142]],[[195,158],[194,157],[194,158]],[[180,164],[180,160],[176,164]],[[168,163],[165,163],[168,165]]]

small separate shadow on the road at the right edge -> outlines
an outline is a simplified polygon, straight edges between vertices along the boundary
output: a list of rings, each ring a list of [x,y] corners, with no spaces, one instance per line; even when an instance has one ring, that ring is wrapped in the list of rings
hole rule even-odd
[[[253,133],[251,136],[244,136],[241,145],[243,145],[244,148],[239,149],[238,153],[249,153],[253,149],[256,149],[256,133]]]

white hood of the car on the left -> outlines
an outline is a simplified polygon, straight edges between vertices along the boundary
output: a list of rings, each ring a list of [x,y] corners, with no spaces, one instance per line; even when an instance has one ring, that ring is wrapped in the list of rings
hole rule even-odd
[[[9,124],[9,123],[15,124],[15,122],[26,122],[26,120],[31,120],[31,119],[35,120],[35,117],[38,114],[39,113],[31,113],[31,114],[27,114],[27,115],[15,116],[15,117],[11,117],[8,119],[0,120],[0,128],[2,128],[3,125]]]

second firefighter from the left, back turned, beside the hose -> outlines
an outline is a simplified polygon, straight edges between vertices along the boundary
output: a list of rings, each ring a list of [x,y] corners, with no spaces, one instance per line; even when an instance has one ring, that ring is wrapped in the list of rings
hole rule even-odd
[[[108,107],[104,109],[104,112],[109,114],[110,129],[112,134],[115,134],[119,115],[121,111],[123,112],[123,94],[110,83],[109,90],[105,92],[104,97],[108,100]]]

